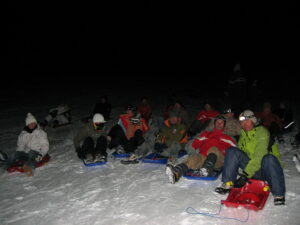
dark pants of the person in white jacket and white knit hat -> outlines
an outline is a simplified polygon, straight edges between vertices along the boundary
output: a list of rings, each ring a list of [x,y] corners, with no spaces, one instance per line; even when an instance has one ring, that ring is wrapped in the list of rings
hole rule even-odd
[[[36,158],[40,153],[34,150],[30,150],[28,153],[16,151],[14,154],[8,157],[6,168],[15,165],[18,161],[24,161],[31,169],[35,169]]]

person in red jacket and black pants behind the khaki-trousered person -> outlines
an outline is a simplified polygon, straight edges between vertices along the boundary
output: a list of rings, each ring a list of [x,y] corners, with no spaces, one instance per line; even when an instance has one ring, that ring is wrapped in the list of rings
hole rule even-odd
[[[199,134],[207,127],[209,122],[219,114],[218,111],[213,109],[210,103],[206,102],[203,109],[197,114],[196,119],[191,124],[188,135],[194,137],[196,134]]]

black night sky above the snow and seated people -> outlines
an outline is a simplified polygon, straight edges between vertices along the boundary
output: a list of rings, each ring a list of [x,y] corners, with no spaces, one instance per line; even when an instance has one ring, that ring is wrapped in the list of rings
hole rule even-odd
[[[30,79],[69,82],[74,80],[70,74],[89,74],[86,80],[95,74],[101,80],[114,74],[147,74],[150,80],[155,75],[169,80],[174,74],[196,79],[186,76],[193,74],[210,80],[207,74],[222,74],[226,80],[236,62],[252,79],[267,80],[276,73],[292,79],[291,74],[299,74],[295,9],[155,1],[10,2],[6,65],[10,74],[23,76],[20,84]]]

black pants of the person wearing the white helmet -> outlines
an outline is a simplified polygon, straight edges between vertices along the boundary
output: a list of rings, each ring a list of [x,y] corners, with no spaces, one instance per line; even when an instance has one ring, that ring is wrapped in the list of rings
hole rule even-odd
[[[88,154],[91,154],[95,157],[96,154],[101,154],[102,156],[107,157],[107,140],[104,136],[100,136],[96,145],[94,143],[93,138],[87,137],[82,144],[82,147],[78,149],[77,154],[80,159],[85,159]]]

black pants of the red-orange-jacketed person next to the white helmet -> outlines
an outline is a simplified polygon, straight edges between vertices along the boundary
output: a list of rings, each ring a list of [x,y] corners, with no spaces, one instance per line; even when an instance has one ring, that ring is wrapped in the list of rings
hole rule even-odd
[[[128,140],[120,125],[114,126],[108,136],[111,137],[110,149],[121,145],[124,147],[126,153],[134,152],[145,141],[141,130],[136,130],[134,136]]]

